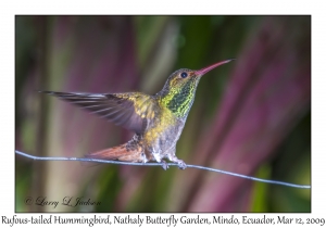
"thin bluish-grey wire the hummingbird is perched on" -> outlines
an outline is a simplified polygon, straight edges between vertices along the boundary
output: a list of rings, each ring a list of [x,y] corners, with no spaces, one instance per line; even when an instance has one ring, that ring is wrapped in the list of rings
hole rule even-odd
[[[39,160],[39,161],[78,161],[78,162],[96,162],[96,163],[109,163],[109,164],[115,164],[115,165],[138,165],[138,166],[162,166],[161,163],[131,163],[131,162],[120,162],[120,161],[111,161],[111,160],[96,160],[96,159],[87,159],[87,157],[65,157],[65,156],[34,156],[27,153],[24,153],[22,151],[15,151],[16,154],[20,154],[22,156],[32,159],[32,160]],[[167,163],[167,166],[178,166],[175,163]],[[235,177],[240,177],[244,179],[250,179],[253,181],[260,181],[260,182],[267,182],[272,185],[280,185],[280,186],[287,186],[287,187],[292,187],[292,188],[301,188],[301,189],[310,189],[311,186],[305,186],[305,185],[296,185],[296,183],[290,183],[290,182],[284,182],[284,181],[277,181],[277,180],[268,180],[268,179],[262,179],[262,178],[256,178],[256,177],[251,177],[242,174],[236,174],[231,172],[226,172],[226,170],[221,170],[216,168],[210,168],[210,167],[204,167],[204,166],[199,166],[199,165],[190,165],[186,164],[187,168],[199,168],[199,169],[204,169],[204,170],[210,170],[210,172],[215,172],[215,173],[221,173],[221,174],[226,174]]]

